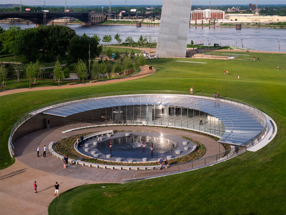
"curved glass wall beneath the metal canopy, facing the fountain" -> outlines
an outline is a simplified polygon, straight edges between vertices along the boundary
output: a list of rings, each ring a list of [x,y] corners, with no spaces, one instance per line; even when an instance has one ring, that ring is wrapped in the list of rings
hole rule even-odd
[[[176,126],[218,136],[223,136],[225,130],[218,118],[205,112],[186,107],[156,104],[105,107],[71,115],[64,120],[65,130],[100,124]]]

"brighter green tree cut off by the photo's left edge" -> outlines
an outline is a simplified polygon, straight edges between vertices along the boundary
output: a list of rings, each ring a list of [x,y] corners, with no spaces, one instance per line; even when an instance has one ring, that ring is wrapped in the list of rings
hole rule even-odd
[[[3,45],[1,53],[12,53],[12,44],[20,31],[20,27],[11,26],[7,31],[3,31],[3,33],[0,34],[0,41]]]

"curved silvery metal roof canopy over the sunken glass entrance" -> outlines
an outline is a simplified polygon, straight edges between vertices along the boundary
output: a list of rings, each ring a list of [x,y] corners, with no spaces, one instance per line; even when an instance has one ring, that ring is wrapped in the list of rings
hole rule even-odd
[[[125,105],[172,105],[195,109],[217,117],[225,126],[225,132],[219,142],[239,145],[254,138],[264,126],[259,117],[243,106],[210,100],[200,96],[178,94],[137,94],[92,98],[70,102],[45,110],[44,114],[67,117],[70,115],[102,109],[105,107]],[[261,120],[260,120],[261,121]]]

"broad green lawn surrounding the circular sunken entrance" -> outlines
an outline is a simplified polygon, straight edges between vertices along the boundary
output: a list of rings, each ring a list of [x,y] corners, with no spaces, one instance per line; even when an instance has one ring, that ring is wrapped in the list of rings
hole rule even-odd
[[[193,85],[195,93],[213,94],[219,91],[221,96],[256,106],[275,120],[277,136],[258,152],[246,152],[229,161],[188,173],[122,185],[85,185],[68,190],[51,203],[49,213],[284,214],[286,55],[246,54],[249,56],[239,59],[259,57],[260,61],[156,59],[149,60],[148,64],[157,72],[137,80],[1,96],[1,168],[13,163],[7,149],[13,124],[36,107],[91,92],[189,91]],[[277,66],[281,69],[276,70]],[[228,70],[229,75],[224,75],[224,70]]]

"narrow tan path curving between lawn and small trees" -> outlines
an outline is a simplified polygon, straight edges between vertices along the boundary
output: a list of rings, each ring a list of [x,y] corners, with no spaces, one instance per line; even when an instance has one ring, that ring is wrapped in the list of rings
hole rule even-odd
[[[75,85],[60,85],[60,87],[52,86],[52,87],[22,88],[22,89],[15,89],[15,90],[7,90],[7,91],[0,92],[0,96],[10,95],[10,94],[14,94],[14,93],[40,91],[40,90],[57,90],[57,89],[67,89],[67,88],[90,87],[90,86],[94,86],[94,85],[101,85],[101,84],[107,84],[107,83],[117,83],[117,82],[129,81],[129,80],[134,80],[134,79],[146,77],[146,76],[152,75],[155,72],[156,72],[155,68],[153,68],[153,70],[150,71],[149,66],[145,65],[144,67],[141,67],[141,72],[139,72],[135,75],[120,78],[120,79],[99,81],[99,82],[95,82],[95,83],[78,83]]]

